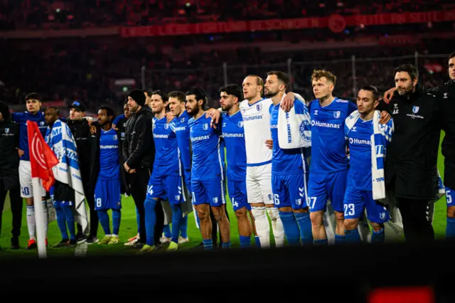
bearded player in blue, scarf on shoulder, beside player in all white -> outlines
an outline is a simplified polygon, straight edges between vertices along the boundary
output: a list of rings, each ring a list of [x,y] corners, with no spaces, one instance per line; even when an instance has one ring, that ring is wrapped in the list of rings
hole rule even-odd
[[[289,245],[313,243],[311,220],[307,197],[308,167],[303,148],[282,149],[278,141],[278,114],[282,99],[286,95],[289,77],[286,73],[272,71],[267,73],[264,95],[272,99],[270,112],[270,131],[272,132],[272,192],[274,206],[284,226]],[[294,102],[296,114],[308,112],[304,102]]]

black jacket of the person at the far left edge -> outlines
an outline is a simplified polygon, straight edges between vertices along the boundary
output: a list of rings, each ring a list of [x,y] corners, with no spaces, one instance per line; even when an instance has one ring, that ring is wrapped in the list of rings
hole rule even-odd
[[[0,121],[0,181],[6,189],[19,185],[19,125],[10,120]]]

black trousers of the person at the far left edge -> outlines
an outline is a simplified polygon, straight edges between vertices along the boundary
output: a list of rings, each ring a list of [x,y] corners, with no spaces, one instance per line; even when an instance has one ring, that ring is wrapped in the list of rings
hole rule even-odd
[[[8,190],[4,187],[3,182],[0,180],[0,234],[1,234],[1,217],[5,205],[6,193]],[[13,238],[18,238],[21,235],[22,225],[22,208],[23,200],[21,198],[21,187],[9,189],[9,201],[11,204],[11,212],[13,213],[13,229],[11,234]]]

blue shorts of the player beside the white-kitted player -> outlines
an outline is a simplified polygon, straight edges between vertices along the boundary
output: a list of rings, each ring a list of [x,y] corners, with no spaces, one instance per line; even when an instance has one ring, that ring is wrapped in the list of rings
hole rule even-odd
[[[306,175],[272,173],[272,192],[276,208],[292,207],[306,208]]]

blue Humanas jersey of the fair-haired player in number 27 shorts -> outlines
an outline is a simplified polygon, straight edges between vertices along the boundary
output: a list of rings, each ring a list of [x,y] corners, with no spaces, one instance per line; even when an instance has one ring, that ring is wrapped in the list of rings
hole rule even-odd
[[[337,97],[326,106],[319,100],[309,105],[311,117],[311,173],[328,174],[348,169],[344,123],[355,103]]]

